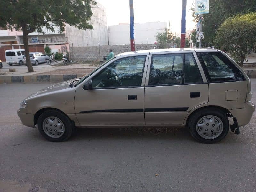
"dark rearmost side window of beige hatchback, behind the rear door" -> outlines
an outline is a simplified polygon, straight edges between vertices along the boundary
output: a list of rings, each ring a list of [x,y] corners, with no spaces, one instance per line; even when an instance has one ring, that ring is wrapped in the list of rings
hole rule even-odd
[[[209,82],[245,80],[242,72],[221,52],[198,52]]]

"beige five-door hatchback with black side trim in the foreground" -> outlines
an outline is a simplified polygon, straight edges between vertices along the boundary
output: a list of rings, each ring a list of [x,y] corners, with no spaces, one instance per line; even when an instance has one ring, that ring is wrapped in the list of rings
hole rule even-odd
[[[119,54],[87,76],[36,92],[18,116],[54,142],[74,127],[188,126],[197,141],[215,143],[249,123],[251,98],[248,76],[224,52],[155,49]]]

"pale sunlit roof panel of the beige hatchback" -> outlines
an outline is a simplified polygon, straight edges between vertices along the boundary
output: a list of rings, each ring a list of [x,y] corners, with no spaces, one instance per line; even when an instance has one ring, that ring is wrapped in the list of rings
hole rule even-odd
[[[121,55],[132,55],[132,54],[148,54],[148,53],[156,53],[156,52],[168,52],[168,51],[195,51],[195,52],[209,52],[209,51],[218,51],[214,48],[169,48],[169,49],[148,49],[148,50],[139,50],[139,51],[130,51],[125,53],[120,53],[116,56]]]

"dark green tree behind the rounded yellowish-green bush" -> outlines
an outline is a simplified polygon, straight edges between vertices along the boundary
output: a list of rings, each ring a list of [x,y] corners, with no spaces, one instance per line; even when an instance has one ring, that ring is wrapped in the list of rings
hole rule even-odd
[[[194,10],[192,8],[192,10]],[[214,45],[213,38],[216,30],[225,19],[248,12],[256,12],[255,0],[210,0],[209,14],[203,15],[202,31],[204,32],[203,42],[205,46]],[[198,22],[199,17],[192,12],[194,20]],[[194,39],[193,39],[194,41]]]

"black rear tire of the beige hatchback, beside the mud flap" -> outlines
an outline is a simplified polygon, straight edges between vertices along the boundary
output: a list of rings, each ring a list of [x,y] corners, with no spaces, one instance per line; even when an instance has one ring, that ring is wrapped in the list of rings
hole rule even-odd
[[[200,120],[200,118],[207,115],[217,116],[218,118],[220,118],[220,120],[223,123],[223,131],[217,138],[205,139],[201,137],[196,131],[197,122]],[[195,140],[201,143],[208,143],[208,144],[219,142],[228,134],[228,131],[229,131],[228,117],[223,111],[221,111],[218,108],[204,108],[202,110],[196,111],[194,114],[192,114],[191,117],[189,117],[188,126],[190,129],[190,133]]]

